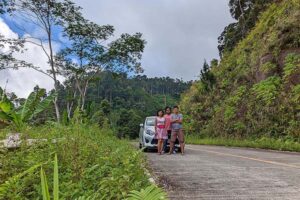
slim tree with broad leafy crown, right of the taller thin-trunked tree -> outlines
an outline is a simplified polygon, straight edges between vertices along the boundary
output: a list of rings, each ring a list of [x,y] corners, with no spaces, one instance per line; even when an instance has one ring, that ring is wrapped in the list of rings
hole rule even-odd
[[[141,59],[145,41],[142,35],[122,34],[108,45],[104,42],[112,37],[114,28],[99,26],[88,20],[71,23],[65,27],[71,45],[63,49],[58,58],[65,74],[73,77],[79,93],[79,107],[85,109],[88,86],[103,70],[113,72],[141,72]]]

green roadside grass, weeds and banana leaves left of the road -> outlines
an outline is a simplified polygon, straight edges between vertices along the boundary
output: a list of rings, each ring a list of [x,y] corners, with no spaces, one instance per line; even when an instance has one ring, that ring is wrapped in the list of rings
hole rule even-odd
[[[53,99],[45,95],[36,88],[15,106],[1,90],[0,140],[15,144],[0,144],[0,199],[166,198],[149,182],[141,151],[118,139],[108,122],[99,126],[77,109],[68,124],[37,125],[35,115]]]

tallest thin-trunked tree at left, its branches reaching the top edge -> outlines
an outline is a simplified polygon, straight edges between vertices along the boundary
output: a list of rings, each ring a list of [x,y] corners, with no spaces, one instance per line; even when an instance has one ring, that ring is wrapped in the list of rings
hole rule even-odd
[[[76,6],[70,0],[5,0],[0,4],[2,12],[5,6],[12,6],[12,19],[18,18],[23,21],[24,26],[16,25],[24,35],[23,40],[40,47],[48,58],[49,69],[42,70],[39,67],[33,67],[35,70],[47,75],[54,82],[54,90],[58,92],[59,71],[55,60],[55,30],[70,21],[81,19],[80,7]],[[31,36],[28,27],[35,27],[40,31],[40,36]],[[60,111],[58,106],[58,97],[54,99],[57,121],[60,121]]]

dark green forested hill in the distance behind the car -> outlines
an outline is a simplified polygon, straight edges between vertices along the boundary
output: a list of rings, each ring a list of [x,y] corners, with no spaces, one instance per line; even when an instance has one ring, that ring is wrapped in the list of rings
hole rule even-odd
[[[100,127],[106,124],[120,137],[135,138],[138,136],[139,124],[146,116],[155,115],[157,109],[165,106],[177,105],[181,93],[186,91],[191,83],[192,81],[184,82],[170,77],[129,77],[126,73],[104,71],[93,75],[81,109],[77,83],[74,77],[71,77],[58,88],[62,123],[69,124],[77,108],[84,121],[92,121]],[[33,90],[38,91],[41,88],[36,86]],[[14,93],[7,95],[16,105],[24,105],[26,101]],[[33,118],[32,123],[41,125],[55,118],[54,105],[50,104],[45,111]]]

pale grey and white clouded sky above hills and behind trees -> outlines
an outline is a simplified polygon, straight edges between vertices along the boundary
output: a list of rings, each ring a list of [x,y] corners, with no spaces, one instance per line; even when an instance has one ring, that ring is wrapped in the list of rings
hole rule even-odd
[[[217,38],[231,23],[228,0],[74,0],[86,18],[100,25],[110,24],[121,33],[141,32],[147,41],[142,58],[144,74],[197,79],[204,59],[219,58]],[[17,31],[0,16],[0,33],[17,37]],[[33,30],[32,35],[39,34]],[[42,49],[27,44],[17,55],[47,68]],[[56,46],[59,49],[59,45]],[[26,97],[35,85],[51,89],[53,81],[33,70],[0,71],[0,86]]]

